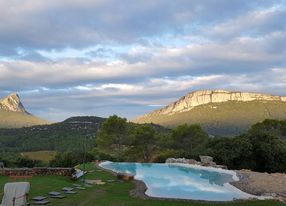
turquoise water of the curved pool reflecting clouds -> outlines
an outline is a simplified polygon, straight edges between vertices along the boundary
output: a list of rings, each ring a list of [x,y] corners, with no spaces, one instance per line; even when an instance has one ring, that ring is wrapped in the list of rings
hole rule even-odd
[[[135,175],[135,179],[145,182],[146,194],[151,197],[208,201],[253,197],[229,184],[236,178],[229,170],[157,163],[103,162],[100,166]]]

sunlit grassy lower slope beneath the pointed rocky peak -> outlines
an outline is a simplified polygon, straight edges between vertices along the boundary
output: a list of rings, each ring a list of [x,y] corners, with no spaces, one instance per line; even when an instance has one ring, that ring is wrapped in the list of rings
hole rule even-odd
[[[49,124],[49,122],[30,114],[0,111],[0,128],[20,128],[44,124]]]

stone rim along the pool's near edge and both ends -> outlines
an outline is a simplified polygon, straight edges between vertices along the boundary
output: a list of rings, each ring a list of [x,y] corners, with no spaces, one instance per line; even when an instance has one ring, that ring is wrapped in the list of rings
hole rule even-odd
[[[104,170],[104,171],[107,171],[111,174],[113,174],[114,176],[117,176],[117,173],[112,171],[112,170],[109,170],[109,169],[106,169],[104,167],[101,167],[99,164],[103,163],[105,161],[102,161],[102,162],[99,162],[99,163],[96,163],[96,167]],[[110,161],[107,161],[107,162],[110,162]],[[235,173],[237,173],[237,171],[233,171]],[[244,176],[242,174],[237,174],[237,178],[238,180],[234,180],[232,182],[229,182],[229,184],[231,184],[232,186],[234,186],[235,188],[241,190],[242,192],[246,192],[244,191],[242,188],[238,188],[236,187],[234,184],[232,184],[233,182],[238,182],[238,181],[245,181],[245,179],[247,179],[247,176]],[[192,199],[182,199],[182,198],[167,198],[167,197],[151,197],[149,195],[146,194],[146,191],[148,189],[147,185],[145,184],[144,181],[142,180],[137,180],[137,179],[133,179],[132,182],[134,182],[134,185],[135,185],[135,188],[130,190],[129,191],[129,195],[131,197],[134,197],[134,198],[140,198],[140,199],[144,199],[144,200],[164,200],[164,201],[183,201],[183,202],[193,202],[193,203],[208,203],[208,204],[227,204],[227,203],[233,203],[233,202],[249,202],[249,201],[263,201],[261,199],[257,199],[257,198],[248,198],[248,199],[234,199],[234,200],[230,200],[230,201],[211,201],[211,200],[192,200]],[[248,194],[251,194],[249,192],[246,192]],[[251,194],[251,195],[255,195],[257,196],[256,194]],[[269,199],[264,199],[264,200],[274,200],[274,201],[279,201],[275,198],[269,198]]]

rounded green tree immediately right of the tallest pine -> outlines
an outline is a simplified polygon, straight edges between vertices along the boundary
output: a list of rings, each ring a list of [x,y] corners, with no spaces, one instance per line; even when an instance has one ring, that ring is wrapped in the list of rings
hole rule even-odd
[[[140,125],[131,132],[131,145],[128,154],[136,160],[149,162],[156,149],[155,130],[150,125]]]

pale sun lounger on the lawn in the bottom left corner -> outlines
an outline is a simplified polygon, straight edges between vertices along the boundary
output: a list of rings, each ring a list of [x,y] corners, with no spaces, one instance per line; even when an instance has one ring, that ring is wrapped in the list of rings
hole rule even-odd
[[[1,206],[27,205],[27,196],[30,190],[29,182],[6,183]]]

